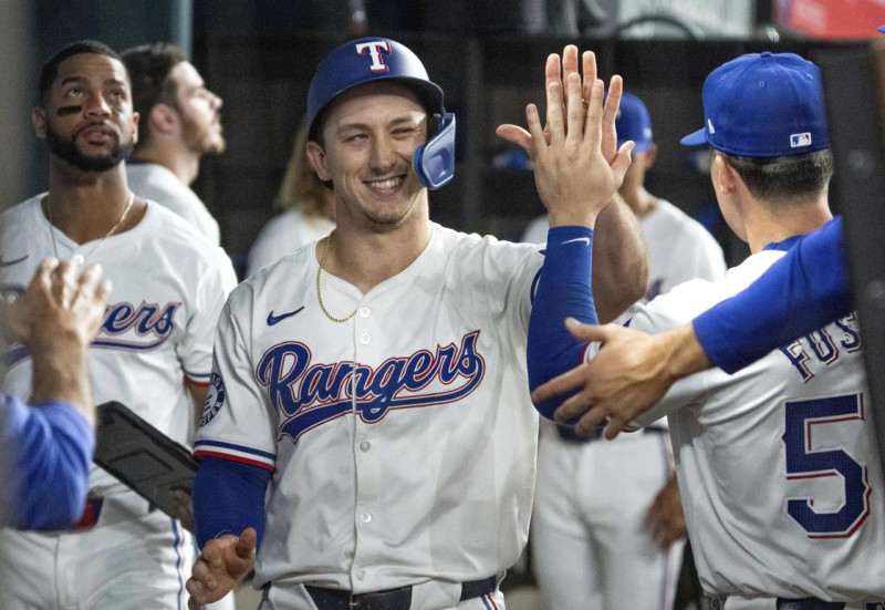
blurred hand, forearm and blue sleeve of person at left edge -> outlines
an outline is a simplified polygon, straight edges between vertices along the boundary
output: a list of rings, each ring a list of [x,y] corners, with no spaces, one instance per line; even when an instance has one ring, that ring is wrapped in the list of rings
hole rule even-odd
[[[95,448],[86,350],[104,318],[110,285],[101,267],[80,277],[70,261],[45,259],[13,306],[3,332],[34,362],[30,402],[0,394],[0,526],[59,529],[80,518]]]

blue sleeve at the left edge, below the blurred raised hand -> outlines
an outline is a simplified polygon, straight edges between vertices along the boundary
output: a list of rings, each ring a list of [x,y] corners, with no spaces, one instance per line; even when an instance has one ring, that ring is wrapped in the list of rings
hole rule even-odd
[[[64,529],[83,514],[95,431],[66,403],[28,406],[4,396],[12,458],[7,514],[18,529]]]

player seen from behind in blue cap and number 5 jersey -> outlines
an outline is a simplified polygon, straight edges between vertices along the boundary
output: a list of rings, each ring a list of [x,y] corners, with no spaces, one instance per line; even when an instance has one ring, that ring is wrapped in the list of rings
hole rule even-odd
[[[652,301],[632,319],[637,330],[686,322],[742,290],[831,218],[814,64],[791,53],[742,55],[707,77],[704,108],[706,126],[683,142],[712,146],[717,199],[752,256],[723,281],[695,280]],[[537,300],[550,288],[539,286]],[[861,348],[845,316],[735,375],[687,378],[637,418],[669,415],[698,572],[718,607],[885,603],[885,495]],[[546,396],[534,399],[549,406]],[[587,406],[579,393],[556,417]]]

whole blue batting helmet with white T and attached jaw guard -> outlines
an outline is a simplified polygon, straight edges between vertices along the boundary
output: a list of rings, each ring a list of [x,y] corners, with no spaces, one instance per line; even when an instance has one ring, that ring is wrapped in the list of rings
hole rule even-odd
[[[430,138],[412,159],[420,183],[437,189],[455,174],[455,115],[442,105],[442,90],[430,81],[418,56],[407,46],[386,38],[362,38],[329,53],[308,92],[308,134],[316,139],[323,111],[339,95],[377,81],[393,80],[409,86],[428,112]]]

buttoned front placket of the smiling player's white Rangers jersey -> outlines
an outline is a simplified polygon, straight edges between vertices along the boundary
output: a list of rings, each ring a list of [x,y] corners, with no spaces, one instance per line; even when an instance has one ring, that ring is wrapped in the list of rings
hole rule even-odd
[[[374,314],[371,303],[361,301],[354,316],[354,364],[378,363],[383,351],[381,345],[382,330],[379,318]],[[360,401],[365,409],[367,397],[354,391],[354,427],[353,427],[353,455],[354,473],[356,476],[356,494],[354,498],[354,533],[355,549],[351,565],[351,582],[355,592],[376,591],[382,588],[378,583],[377,567],[383,560],[383,541],[381,538],[381,493],[383,480],[383,464],[381,454],[381,438],[378,427],[372,421],[366,422],[362,416]]]

